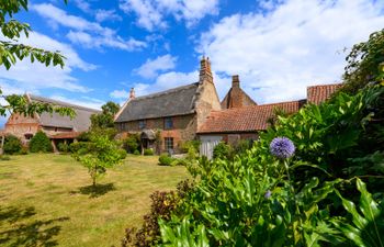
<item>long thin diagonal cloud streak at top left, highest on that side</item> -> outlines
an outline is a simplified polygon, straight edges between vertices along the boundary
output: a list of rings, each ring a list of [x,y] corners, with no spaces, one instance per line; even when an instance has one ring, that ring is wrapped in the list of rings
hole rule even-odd
[[[133,37],[125,41],[114,30],[79,16],[69,15],[50,3],[35,4],[32,5],[32,9],[39,15],[48,19],[49,22],[70,29],[67,37],[72,43],[83,45],[88,48],[112,47],[131,52],[146,47],[146,43],[144,42],[136,41]]]

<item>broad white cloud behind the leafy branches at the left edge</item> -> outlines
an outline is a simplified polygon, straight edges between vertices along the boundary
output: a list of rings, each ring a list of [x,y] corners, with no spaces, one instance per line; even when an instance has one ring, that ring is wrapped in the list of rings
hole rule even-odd
[[[87,92],[91,89],[80,85],[70,74],[74,69],[89,71],[97,66],[82,60],[79,55],[66,44],[53,40],[43,34],[31,32],[30,37],[21,37],[20,43],[41,47],[48,50],[60,50],[66,56],[66,66],[46,67],[37,61],[31,64],[29,58],[18,61],[10,70],[0,67],[1,85],[8,83],[23,91],[35,91],[38,89],[57,88],[67,91]]]

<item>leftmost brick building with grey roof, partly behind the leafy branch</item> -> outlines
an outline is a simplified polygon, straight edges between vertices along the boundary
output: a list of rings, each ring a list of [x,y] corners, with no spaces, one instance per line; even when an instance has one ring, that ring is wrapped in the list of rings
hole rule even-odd
[[[29,102],[49,103],[57,106],[71,108],[76,112],[76,116],[61,116],[58,113],[42,113],[34,116],[24,116],[22,114],[12,114],[4,128],[4,134],[11,134],[19,137],[24,145],[38,132],[43,131],[52,139],[54,148],[59,142],[71,143],[81,132],[86,132],[91,126],[91,115],[99,111],[83,108],[57,100],[52,100],[33,94],[25,94]]]

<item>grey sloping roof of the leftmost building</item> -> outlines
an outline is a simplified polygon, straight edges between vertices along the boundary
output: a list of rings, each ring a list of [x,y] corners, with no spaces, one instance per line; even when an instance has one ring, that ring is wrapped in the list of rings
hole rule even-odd
[[[71,128],[75,132],[84,132],[88,131],[91,126],[91,115],[100,113],[100,111],[94,109],[70,104],[63,101],[52,100],[44,97],[33,94],[27,94],[27,97],[34,102],[50,103],[58,106],[71,108],[76,112],[76,116],[72,120],[69,116],[63,116],[58,113],[50,114],[44,112],[38,117],[39,123],[43,126]]]

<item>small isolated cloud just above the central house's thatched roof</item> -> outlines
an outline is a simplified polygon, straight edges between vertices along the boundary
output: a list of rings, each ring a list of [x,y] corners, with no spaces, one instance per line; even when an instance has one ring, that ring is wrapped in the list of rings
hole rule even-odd
[[[134,72],[144,78],[154,78],[160,71],[167,71],[176,67],[177,57],[167,54],[155,59],[147,59],[147,61],[139,68],[134,69]]]

